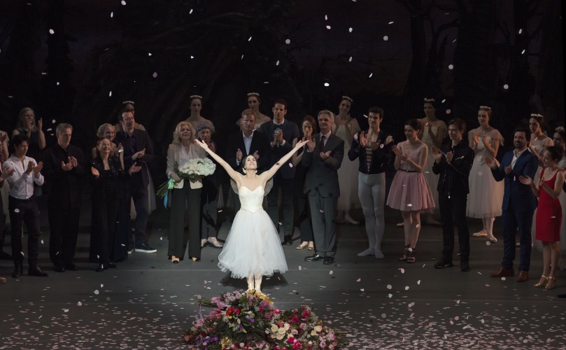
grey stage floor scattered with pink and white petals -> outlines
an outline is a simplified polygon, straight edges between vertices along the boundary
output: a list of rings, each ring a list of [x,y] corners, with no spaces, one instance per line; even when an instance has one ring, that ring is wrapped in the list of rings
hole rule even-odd
[[[218,249],[204,248],[201,262],[171,264],[162,210],[150,217],[150,244],[157,253],[133,253],[117,269],[96,273],[87,262],[89,212],[83,210],[81,219],[79,271],[51,271],[48,235],[40,253],[48,278],[13,279],[12,263],[0,261],[0,275],[8,279],[0,286],[0,349],[182,348],[183,329],[197,317],[197,295],[246,287],[218,270]],[[566,276],[559,273],[554,290],[533,288],[542,272],[539,251],[533,251],[528,283],[491,279],[502,243],[488,246],[482,239],[472,239],[470,272],[460,272],[458,257],[455,267],[438,270],[433,265],[441,232],[423,225],[417,262],[407,264],[397,261],[403,231],[394,224],[400,215],[386,216],[385,259],[356,256],[367,247],[364,227],[339,225],[334,265],[305,262],[309,252],[285,246],[289,271],[265,281],[264,291],[282,309],[311,306],[346,334],[348,349],[565,348],[566,300],[556,295],[566,293]],[[475,232],[479,221],[470,227]],[[48,232],[45,222],[42,228]],[[501,237],[499,221],[495,228]],[[225,223],[220,239],[228,230]]]

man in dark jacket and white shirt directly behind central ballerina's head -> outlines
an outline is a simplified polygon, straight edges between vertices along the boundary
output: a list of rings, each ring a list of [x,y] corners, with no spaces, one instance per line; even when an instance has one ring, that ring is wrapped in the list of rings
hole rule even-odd
[[[224,159],[236,171],[243,168],[243,160],[248,155],[253,155],[257,160],[257,172],[260,173],[265,169],[269,169],[271,160],[271,149],[269,140],[262,132],[254,130],[255,112],[252,109],[244,109],[241,119],[242,130],[230,135],[226,144]],[[232,197],[238,196],[233,193]],[[237,212],[240,209],[240,201],[233,201],[232,209]]]

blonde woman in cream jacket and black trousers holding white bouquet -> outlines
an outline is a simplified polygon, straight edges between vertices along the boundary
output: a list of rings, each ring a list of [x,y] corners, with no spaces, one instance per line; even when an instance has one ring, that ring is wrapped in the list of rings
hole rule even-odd
[[[183,181],[178,167],[189,160],[205,158],[206,153],[194,143],[196,137],[192,125],[183,121],[173,132],[173,143],[167,150],[167,177],[175,181],[171,190],[171,220],[169,221],[169,253],[171,262],[177,264],[185,255],[187,240],[184,235],[185,208],[189,223],[189,257],[193,261],[201,258],[200,245],[200,202],[201,179]]]

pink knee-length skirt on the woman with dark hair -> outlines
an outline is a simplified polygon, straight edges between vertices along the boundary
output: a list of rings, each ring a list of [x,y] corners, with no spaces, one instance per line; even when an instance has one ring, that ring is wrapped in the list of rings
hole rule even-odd
[[[387,205],[401,211],[434,208],[434,199],[425,176],[420,172],[397,171],[391,183]]]

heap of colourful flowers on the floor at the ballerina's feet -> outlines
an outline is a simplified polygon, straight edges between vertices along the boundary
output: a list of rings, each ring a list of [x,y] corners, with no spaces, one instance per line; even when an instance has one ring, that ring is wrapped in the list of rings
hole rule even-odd
[[[211,313],[185,330],[183,339],[197,349],[339,349],[344,339],[306,305],[283,311],[263,293],[225,293],[203,299]]]

